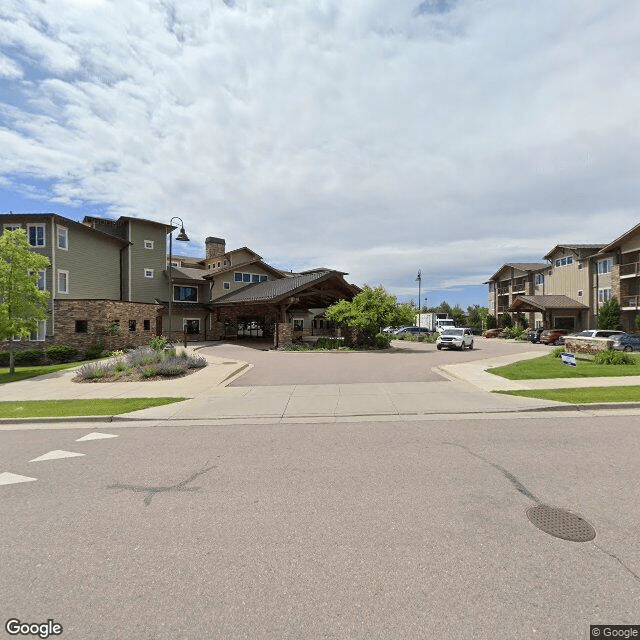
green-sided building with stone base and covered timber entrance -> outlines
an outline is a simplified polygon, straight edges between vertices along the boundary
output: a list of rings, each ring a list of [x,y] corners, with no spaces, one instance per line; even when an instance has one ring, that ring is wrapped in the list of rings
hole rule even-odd
[[[282,271],[247,247],[227,251],[214,237],[204,257],[172,255],[169,264],[172,227],[153,220],[11,213],[0,224],[2,232],[24,229],[32,250],[50,262],[39,279],[50,293],[47,320],[23,347],[135,346],[168,335],[170,325],[174,339],[253,335],[277,345],[322,332],[323,309],[359,291],[343,272]]]

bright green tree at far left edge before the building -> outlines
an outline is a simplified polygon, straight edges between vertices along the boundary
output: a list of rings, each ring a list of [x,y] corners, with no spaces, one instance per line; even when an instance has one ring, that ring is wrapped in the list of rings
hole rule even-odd
[[[38,272],[47,266],[46,256],[29,249],[24,229],[0,236],[0,340],[26,339],[46,319],[49,293],[38,289]],[[9,371],[15,372],[12,342]]]

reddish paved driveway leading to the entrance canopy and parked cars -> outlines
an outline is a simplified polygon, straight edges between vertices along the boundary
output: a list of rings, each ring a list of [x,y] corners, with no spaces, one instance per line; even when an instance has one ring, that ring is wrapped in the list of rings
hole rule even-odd
[[[386,382],[434,382],[445,378],[432,371],[443,364],[456,364],[540,349],[552,348],[530,342],[505,342],[475,338],[472,351],[438,351],[435,344],[396,340],[390,351],[305,352],[258,351],[240,344],[222,343],[204,347],[207,355],[242,360],[253,368],[230,386],[260,387],[311,384],[355,384]]]

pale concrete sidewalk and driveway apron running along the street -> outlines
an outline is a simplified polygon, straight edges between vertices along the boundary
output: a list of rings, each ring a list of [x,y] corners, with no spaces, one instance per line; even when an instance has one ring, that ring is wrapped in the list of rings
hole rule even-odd
[[[199,353],[207,358],[209,366],[184,378],[149,382],[76,383],[72,381],[75,370],[66,370],[3,385],[0,387],[0,400],[185,397],[188,400],[184,402],[121,416],[95,417],[94,420],[315,421],[597,408],[490,392],[640,384],[640,377],[511,381],[486,372],[490,367],[540,355],[539,351],[532,351],[434,368],[434,371],[448,378],[440,381],[229,387],[226,385],[236,378],[241,382],[242,373],[253,365],[237,359],[216,358],[202,351]],[[634,408],[629,403],[611,406]],[[60,420],[68,422],[69,418]],[[22,421],[5,419],[0,423]]]

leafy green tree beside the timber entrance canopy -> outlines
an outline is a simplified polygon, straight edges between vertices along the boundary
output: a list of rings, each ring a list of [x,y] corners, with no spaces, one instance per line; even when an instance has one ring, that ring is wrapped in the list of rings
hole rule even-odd
[[[415,309],[408,303],[399,305],[382,286],[365,286],[351,302],[341,300],[329,307],[325,317],[337,325],[358,329],[365,342],[371,344],[383,327],[412,325]]]

